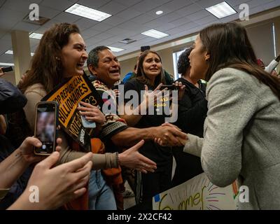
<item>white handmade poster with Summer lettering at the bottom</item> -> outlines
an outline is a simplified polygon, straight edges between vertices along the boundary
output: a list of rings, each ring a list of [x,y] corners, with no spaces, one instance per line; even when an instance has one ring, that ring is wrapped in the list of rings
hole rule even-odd
[[[153,210],[236,210],[237,189],[237,181],[219,188],[203,173],[155,195]]]

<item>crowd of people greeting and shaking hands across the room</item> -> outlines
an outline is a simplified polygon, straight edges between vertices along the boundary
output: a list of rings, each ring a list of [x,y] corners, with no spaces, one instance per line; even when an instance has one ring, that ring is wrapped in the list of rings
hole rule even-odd
[[[202,29],[181,54],[178,80],[163,69],[158,52],[145,50],[123,84],[110,48],[97,46],[87,54],[76,25],[54,25],[43,34],[18,87],[0,79],[1,208],[69,209],[69,203],[82,203],[82,209],[121,210],[127,180],[136,209],[152,209],[153,196],[204,172],[216,186],[235,180],[248,186],[249,202],[240,202],[239,209],[280,209],[280,80],[272,74],[279,59],[269,70],[262,68],[246,29],[221,23]],[[85,62],[92,85],[116,109],[78,106],[81,116],[97,124],[102,153],[80,147],[62,130],[47,158],[34,155],[33,148],[41,146],[34,137],[13,146],[3,115],[20,111],[34,133],[37,102],[67,78],[83,76]],[[120,85],[130,96],[124,102],[118,100],[124,97]],[[166,123],[174,113],[176,122]],[[39,203],[29,202],[30,186],[38,186]],[[86,200],[78,200],[82,197]]]

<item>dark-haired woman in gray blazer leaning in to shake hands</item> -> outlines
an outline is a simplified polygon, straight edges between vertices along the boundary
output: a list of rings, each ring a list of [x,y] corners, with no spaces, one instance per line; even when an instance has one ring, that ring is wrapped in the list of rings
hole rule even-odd
[[[209,81],[209,110],[204,138],[188,134],[184,151],[201,157],[216,186],[248,187],[239,209],[280,209],[280,81],[258,66],[236,23],[202,29],[189,58],[190,77]]]

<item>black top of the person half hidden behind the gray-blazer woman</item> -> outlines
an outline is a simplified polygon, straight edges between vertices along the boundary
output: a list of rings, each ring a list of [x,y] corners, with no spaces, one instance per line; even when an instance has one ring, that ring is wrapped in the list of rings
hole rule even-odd
[[[185,94],[179,102],[179,115],[176,125],[183,132],[203,137],[204,120],[207,117],[206,84],[199,81],[196,87],[185,78],[176,80],[186,85]]]

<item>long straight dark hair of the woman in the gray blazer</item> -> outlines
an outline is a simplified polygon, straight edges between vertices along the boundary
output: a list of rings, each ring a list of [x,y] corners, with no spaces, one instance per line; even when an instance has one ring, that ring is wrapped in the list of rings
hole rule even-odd
[[[235,22],[220,23],[200,31],[200,39],[209,52],[209,69],[206,80],[223,68],[245,71],[268,85],[280,99],[280,81],[258,66],[255,52],[248,39],[246,29]]]

